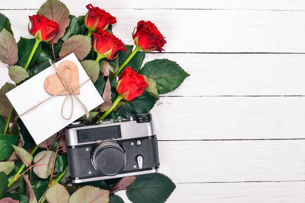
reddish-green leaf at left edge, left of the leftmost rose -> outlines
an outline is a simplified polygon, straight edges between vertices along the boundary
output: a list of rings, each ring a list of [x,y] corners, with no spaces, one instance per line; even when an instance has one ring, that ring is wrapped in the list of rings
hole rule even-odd
[[[16,40],[5,28],[0,32],[0,60],[10,65],[15,65],[18,61]]]

